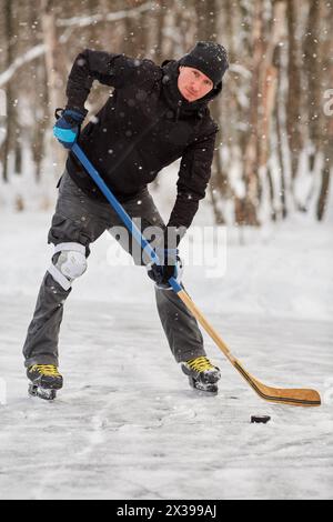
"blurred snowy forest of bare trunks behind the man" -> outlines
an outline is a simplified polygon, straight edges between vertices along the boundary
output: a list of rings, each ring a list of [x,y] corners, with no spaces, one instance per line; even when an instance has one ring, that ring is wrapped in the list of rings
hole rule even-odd
[[[48,210],[65,152],[54,109],[84,48],[180,58],[230,53],[209,200],[215,223],[324,220],[333,164],[331,0],[0,0],[0,212]],[[108,91],[94,82],[92,116]]]

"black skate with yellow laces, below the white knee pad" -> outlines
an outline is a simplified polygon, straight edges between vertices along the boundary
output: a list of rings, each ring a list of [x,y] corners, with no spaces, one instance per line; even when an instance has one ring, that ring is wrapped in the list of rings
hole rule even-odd
[[[34,364],[28,368],[27,375],[31,381],[29,394],[46,401],[53,401],[63,384],[62,375],[52,364]]]

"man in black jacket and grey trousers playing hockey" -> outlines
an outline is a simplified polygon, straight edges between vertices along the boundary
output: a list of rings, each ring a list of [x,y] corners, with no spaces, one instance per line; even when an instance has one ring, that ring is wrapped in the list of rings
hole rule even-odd
[[[191,385],[213,394],[218,392],[220,371],[206,358],[195,319],[168,281],[171,277],[180,279],[178,244],[205,195],[218,132],[208,103],[221,93],[228,67],[224,48],[213,42],[198,42],[179,61],[165,61],[161,67],[145,59],[87,49],[73,63],[67,86],[68,104],[54,126],[54,135],[67,149],[78,141],[124,210],[132,219],[141,219],[143,234],[150,227],[158,230],[155,250],[162,267],[148,269],[155,282],[163,329]],[[114,90],[80,133],[93,80]],[[179,158],[178,197],[165,227],[147,185]],[[122,225],[71,152],[58,187],[48,238],[56,250],[23,348],[30,391],[39,391],[42,398],[56,395],[43,391],[62,388],[58,339],[63,303],[73,280],[87,270],[89,245],[105,230]],[[134,257],[132,247],[120,235],[117,239]],[[141,253],[140,259],[134,257],[135,264],[148,264]]]

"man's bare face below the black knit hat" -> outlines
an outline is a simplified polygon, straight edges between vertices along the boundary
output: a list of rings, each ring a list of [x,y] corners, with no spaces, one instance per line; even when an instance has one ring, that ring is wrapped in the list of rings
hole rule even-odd
[[[188,101],[196,101],[208,94],[214,84],[194,67],[180,67],[178,88]]]

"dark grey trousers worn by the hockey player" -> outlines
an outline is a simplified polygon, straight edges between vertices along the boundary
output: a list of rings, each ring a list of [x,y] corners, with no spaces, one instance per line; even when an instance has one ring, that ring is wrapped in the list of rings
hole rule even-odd
[[[159,230],[163,230],[163,220],[147,189],[135,199],[125,202],[123,208],[132,219],[141,219],[143,233],[147,227],[158,227]],[[87,197],[65,171],[60,182],[48,242],[56,247],[63,243],[79,243],[84,247],[85,258],[88,258],[90,243],[95,241],[105,230],[114,229],[114,227],[123,228],[123,224],[110,204]],[[114,237],[133,255],[131,242],[124,244],[119,235]],[[59,258],[59,253],[53,255],[53,263],[57,257]],[[133,255],[135,264],[148,263],[148,260],[142,259],[141,251],[139,258]],[[63,318],[63,304],[71,290],[71,288],[65,290],[49,271],[46,273],[23,347],[26,367],[32,364],[59,365],[59,331]],[[159,317],[175,361],[181,362],[205,355],[196,320],[179,297],[172,290],[155,288],[155,299]],[[130,313],[129,321],[131,321]]]

